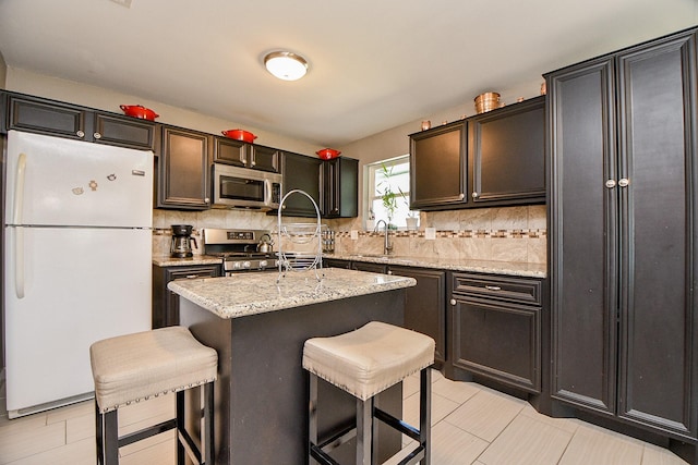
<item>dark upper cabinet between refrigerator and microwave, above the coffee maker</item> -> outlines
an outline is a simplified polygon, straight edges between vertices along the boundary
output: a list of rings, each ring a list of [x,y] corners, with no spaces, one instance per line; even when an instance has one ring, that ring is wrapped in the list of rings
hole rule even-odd
[[[210,147],[213,136],[163,126],[158,157],[157,207],[205,210],[210,207]]]

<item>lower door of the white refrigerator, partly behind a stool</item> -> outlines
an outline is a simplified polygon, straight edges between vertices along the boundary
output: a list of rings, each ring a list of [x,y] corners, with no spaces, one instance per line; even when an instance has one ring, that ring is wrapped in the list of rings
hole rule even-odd
[[[8,411],[93,391],[89,345],[151,329],[151,231],[4,232]]]

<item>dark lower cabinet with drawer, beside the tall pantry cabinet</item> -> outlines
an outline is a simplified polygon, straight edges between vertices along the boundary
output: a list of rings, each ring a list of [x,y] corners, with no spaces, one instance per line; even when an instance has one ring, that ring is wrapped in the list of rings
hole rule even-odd
[[[454,370],[540,393],[542,280],[454,272],[450,286]]]

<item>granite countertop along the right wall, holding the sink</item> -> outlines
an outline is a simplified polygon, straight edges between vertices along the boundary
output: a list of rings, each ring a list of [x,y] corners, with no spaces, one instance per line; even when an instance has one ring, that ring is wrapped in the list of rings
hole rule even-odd
[[[441,257],[410,257],[380,254],[327,254],[324,258],[339,260],[365,261],[404,267],[435,268],[450,271],[474,271],[490,274],[507,274],[515,277],[545,278],[546,266],[542,264],[525,264],[494,260],[466,260]]]

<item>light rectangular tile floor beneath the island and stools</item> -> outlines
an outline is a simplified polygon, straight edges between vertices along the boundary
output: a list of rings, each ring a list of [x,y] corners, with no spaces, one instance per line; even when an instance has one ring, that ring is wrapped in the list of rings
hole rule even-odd
[[[4,380],[0,380],[4,408]],[[404,388],[405,419],[417,424],[417,376]],[[173,395],[120,411],[121,432],[173,415]],[[679,465],[655,445],[577,419],[550,418],[528,403],[434,371],[433,465]],[[9,420],[0,413],[0,465],[94,465],[92,401]],[[122,448],[123,465],[174,464],[174,436],[166,432]],[[392,463],[397,463],[394,457]]]

